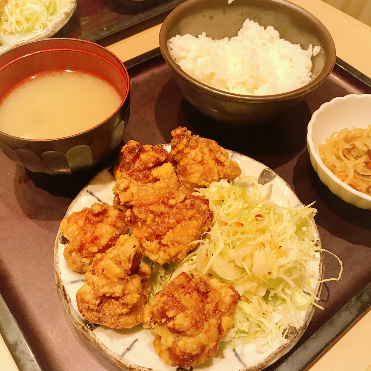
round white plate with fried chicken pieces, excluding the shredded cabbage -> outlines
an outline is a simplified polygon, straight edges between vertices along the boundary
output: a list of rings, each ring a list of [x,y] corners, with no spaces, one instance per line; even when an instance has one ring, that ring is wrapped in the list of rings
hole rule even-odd
[[[125,370],[261,370],[295,345],[313,305],[293,315],[300,320],[265,347],[234,342],[230,334],[242,301],[237,288],[210,273],[183,271],[154,290],[154,267],[180,264],[208,238],[216,215],[198,188],[250,174],[277,204],[302,204],[260,162],[187,128],[171,134],[167,145],[128,141],[117,163],[70,205],[55,243],[63,305],[76,328]],[[260,214],[255,219],[260,222]],[[321,253],[311,260],[317,299]]]

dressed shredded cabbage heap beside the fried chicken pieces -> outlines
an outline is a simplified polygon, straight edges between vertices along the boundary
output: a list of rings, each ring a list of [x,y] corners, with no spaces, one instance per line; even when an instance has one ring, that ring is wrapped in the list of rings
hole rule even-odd
[[[198,189],[194,194],[205,195],[214,212],[211,230],[183,262],[151,263],[151,298],[181,272],[205,274],[233,285],[241,295],[225,341],[256,341],[261,351],[278,338],[284,342],[289,326],[303,325],[301,314],[310,305],[322,308],[315,288],[319,252],[326,250],[311,223],[317,210],[279,206],[271,193],[272,185],[263,194],[250,176],[235,185],[221,180]],[[328,280],[340,279],[339,263],[338,278]]]

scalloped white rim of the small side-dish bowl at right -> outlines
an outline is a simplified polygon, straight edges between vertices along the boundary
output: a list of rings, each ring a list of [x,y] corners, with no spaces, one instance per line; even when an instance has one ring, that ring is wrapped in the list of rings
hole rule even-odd
[[[366,98],[363,98],[363,97],[366,97]],[[319,156],[318,152],[316,151],[316,147],[315,147],[315,144],[313,142],[313,125],[314,125],[314,123],[317,119],[317,116],[321,115],[321,113],[323,111],[325,111],[326,109],[328,109],[332,105],[339,104],[339,102],[341,103],[341,102],[344,102],[345,100],[355,100],[355,99],[368,99],[368,100],[370,100],[370,104],[371,104],[371,94],[366,94],[366,93],[365,94],[347,94],[345,96],[338,96],[338,97],[335,97],[335,98],[331,99],[331,101],[328,101],[328,102],[325,102],[324,104],[322,104],[313,113],[312,118],[308,123],[308,132],[307,132],[306,140],[307,140],[309,154],[314,158],[314,160],[316,161],[317,165],[321,168],[321,170],[326,175],[328,175],[330,180],[333,181],[334,183],[336,183],[337,185],[339,185],[341,188],[343,188],[348,193],[352,194],[354,197],[369,202],[370,203],[369,208],[371,208],[371,196],[369,196],[366,193],[355,190],[354,188],[350,187],[348,184],[341,181],[338,177],[336,177],[335,174],[333,174],[332,171],[329,170],[326,167],[326,165],[324,164],[324,162],[322,161],[321,157]],[[318,171],[316,171],[316,173],[318,173]],[[325,184],[325,185],[328,187],[327,184]]]

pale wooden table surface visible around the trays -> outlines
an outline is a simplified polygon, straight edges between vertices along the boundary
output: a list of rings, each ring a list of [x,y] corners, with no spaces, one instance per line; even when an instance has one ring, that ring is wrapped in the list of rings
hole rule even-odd
[[[314,14],[331,33],[336,55],[371,78],[371,27],[321,0],[291,0]],[[105,40],[105,45],[125,61],[158,47],[161,24],[133,32],[127,30]],[[371,236],[370,236],[371,238]],[[365,313],[306,371],[371,371],[371,311]],[[0,335],[0,369],[18,371]],[[45,370],[52,371],[52,370]],[[295,370],[288,370],[295,371]]]

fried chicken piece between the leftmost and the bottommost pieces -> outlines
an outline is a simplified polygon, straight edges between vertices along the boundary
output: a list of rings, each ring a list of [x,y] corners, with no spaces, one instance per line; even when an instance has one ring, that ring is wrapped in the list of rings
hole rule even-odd
[[[115,246],[97,253],[76,293],[79,312],[94,324],[132,328],[143,322],[143,309],[151,293],[151,269],[140,265],[139,241],[121,235]]]

